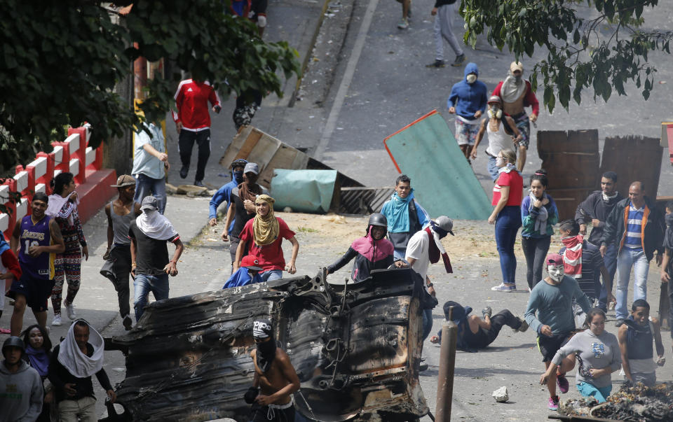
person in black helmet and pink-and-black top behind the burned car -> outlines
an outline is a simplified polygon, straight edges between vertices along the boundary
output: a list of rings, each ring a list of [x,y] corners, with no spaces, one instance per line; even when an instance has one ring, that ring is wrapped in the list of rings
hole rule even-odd
[[[341,269],[353,258],[355,258],[353,272],[351,272],[353,281],[367,279],[372,269],[386,269],[393,264],[397,268],[407,267],[407,264],[402,260],[394,260],[393,244],[388,239],[384,239],[387,230],[388,220],[386,220],[386,217],[381,213],[373,213],[369,217],[365,236],[355,239],[351,247],[348,248],[348,252],[337,262],[327,267],[327,274],[332,274]]]

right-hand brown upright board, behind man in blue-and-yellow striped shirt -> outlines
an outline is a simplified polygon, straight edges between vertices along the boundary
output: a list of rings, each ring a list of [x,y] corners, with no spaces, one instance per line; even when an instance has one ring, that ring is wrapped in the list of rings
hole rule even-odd
[[[641,181],[645,185],[645,195],[657,196],[661,155],[664,148],[659,139],[642,136],[606,138],[601,161],[601,174],[615,171],[618,174],[617,190],[627,197],[629,185]]]

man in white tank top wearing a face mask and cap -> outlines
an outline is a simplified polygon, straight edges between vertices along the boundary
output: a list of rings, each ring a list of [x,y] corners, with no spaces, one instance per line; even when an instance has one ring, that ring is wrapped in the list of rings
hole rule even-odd
[[[516,151],[518,143],[521,141],[521,132],[517,129],[514,120],[503,114],[503,100],[500,97],[497,95],[491,96],[488,104],[489,118],[482,120],[470,156],[473,160],[477,158],[477,147],[484,137],[484,132],[487,132],[489,134],[489,146],[486,148],[486,154],[489,156],[487,169],[495,182],[498,179],[498,166],[496,166],[498,153],[505,149]]]

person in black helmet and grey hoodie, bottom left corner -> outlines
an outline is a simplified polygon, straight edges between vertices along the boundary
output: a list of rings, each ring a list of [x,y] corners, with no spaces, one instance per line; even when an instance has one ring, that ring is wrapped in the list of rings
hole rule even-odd
[[[34,421],[42,411],[40,374],[25,360],[25,345],[19,337],[2,344],[0,364],[0,421]]]

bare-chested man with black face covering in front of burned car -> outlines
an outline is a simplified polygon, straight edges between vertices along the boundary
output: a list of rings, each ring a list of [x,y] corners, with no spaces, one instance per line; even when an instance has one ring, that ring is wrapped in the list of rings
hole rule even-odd
[[[255,403],[252,422],[293,422],[292,393],[299,390],[299,377],[287,353],[276,347],[271,321],[254,321],[252,336],[257,349],[250,352],[254,381],[245,393],[245,402]]]

